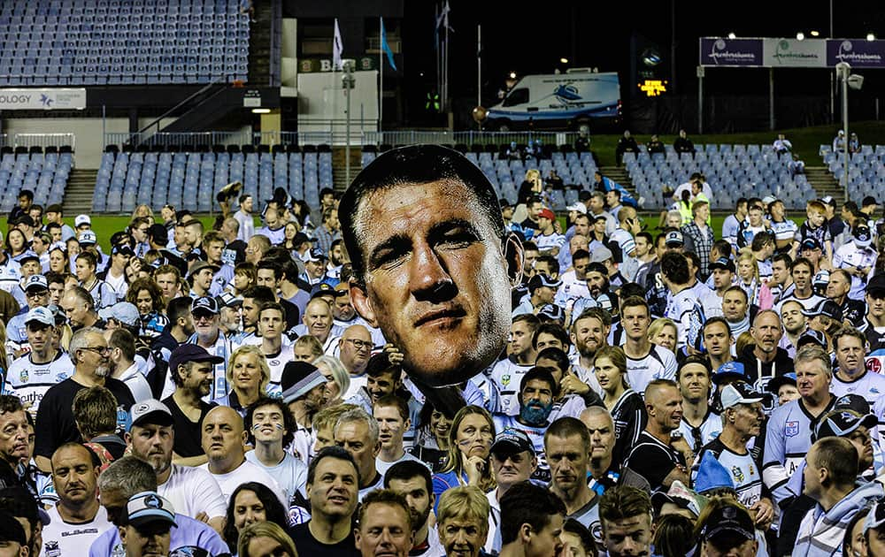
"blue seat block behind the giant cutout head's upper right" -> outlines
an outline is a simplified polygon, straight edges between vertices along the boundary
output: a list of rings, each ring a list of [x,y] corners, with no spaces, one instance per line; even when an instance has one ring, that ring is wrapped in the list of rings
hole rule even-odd
[[[383,150],[383,149],[382,149]],[[541,160],[528,157],[525,161],[511,160],[496,156],[495,149],[459,149],[465,150],[465,156],[480,167],[481,171],[489,178],[498,197],[503,197],[509,202],[516,202],[519,186],[525,179],[526,171],[536,168],[546,178],[550,170],[556,170],[559,177],[566,184],[563,190],[554,190],[550,193],[550,202],[553,210],[565,210],[566,206],[577,201],[578,192],[587,189],[593,184],[593,173],[596,172],[596,162],[589,152],[576,153],[571,150],[566,152],[553,151],[550,158]],[[363,149],[362,165],[371,163],[377,156],[374,149]]]

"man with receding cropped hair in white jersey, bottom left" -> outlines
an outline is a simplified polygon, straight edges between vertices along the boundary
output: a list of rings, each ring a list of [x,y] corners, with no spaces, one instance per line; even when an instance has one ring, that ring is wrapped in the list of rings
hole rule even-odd
[[[88,446],[65,443],[52,454],[52,485],[58,503],[50,507],[43,527],[43,551],[52,555],[82,555],[104,530],[112,528],[98,503],[99,467]]]

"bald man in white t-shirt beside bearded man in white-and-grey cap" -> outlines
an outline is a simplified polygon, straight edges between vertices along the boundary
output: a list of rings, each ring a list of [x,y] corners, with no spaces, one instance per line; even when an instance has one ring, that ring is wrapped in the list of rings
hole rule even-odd
[[[283,508],[289,502],[283,496],[280,485],[261,467],[246,460],[246,431],[242,417],[233,408],[216,406],[203,420],[203,450],[209,457],[200,468],[209,470],[219,483],[227,503],[235,489],[246,482],[258,482],[271,488]]]

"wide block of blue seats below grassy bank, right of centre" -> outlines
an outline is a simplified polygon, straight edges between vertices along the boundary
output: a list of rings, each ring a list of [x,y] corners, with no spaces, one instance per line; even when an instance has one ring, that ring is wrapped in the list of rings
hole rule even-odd
[[[649,155],[625,153],[624,164],[636,195],[645,198],[646,207],[662,207],[665,186],[677,187],[689,181],[693,172],[702,172],[713,190],[714,209],[734,207],[739,197],[775,195],[790,209],[804,207],[817,194],[803,174],[793,176],[789,158],[778,157],[770,145],[696,145],[696,153],[678,154],[673,146],[666,153]]]

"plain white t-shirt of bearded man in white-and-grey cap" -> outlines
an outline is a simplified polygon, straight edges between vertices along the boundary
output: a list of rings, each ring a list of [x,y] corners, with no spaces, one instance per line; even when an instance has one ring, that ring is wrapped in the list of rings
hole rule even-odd
[[[205,464],[204,464],[205,466]],[[176,513],[196,518],[205,513],[209,518],[227,513],[227,498],[219,483],[204,468],[172,465],[172,474],[157,492],[172,503]]]

